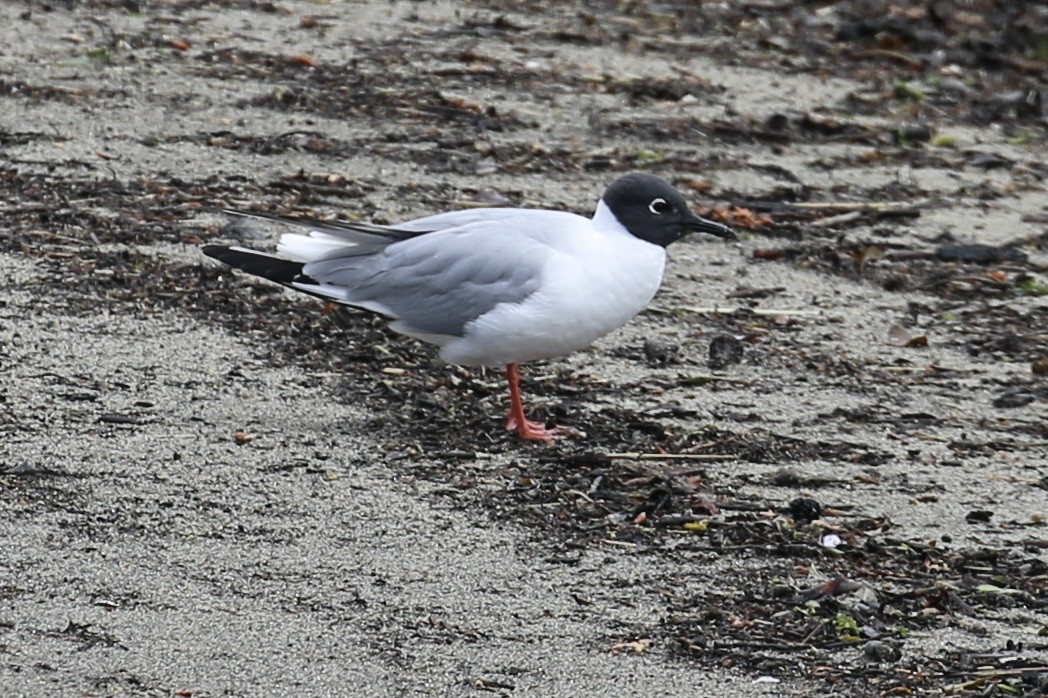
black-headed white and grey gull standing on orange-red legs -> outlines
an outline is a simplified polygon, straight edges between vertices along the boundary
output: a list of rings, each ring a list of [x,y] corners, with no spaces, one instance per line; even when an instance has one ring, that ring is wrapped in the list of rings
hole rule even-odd
[[[734,239],[692,214],[654,175],[628,174],[592,218],[563,211],[473,209],[397,225],[260,216],[304,228],[276,255],[206,245],[230,266],[390,319],[462,366],[505,366],[506,429],[548,441],[566,430],[524,417],[521,362],[563,356],[625,325],[662,282],[665,247],[687,233]]]

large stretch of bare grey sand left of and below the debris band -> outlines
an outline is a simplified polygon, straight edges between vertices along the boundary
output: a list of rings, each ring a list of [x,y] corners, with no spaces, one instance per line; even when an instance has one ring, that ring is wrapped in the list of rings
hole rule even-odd
[[[3,463],[51,476],[5,487],[5,693],[750,690],[609,654],[609,630],[655,599],[583,607],[577,594],[647,563],[544,562],[521,531],[435,506],[433,484],[362,465],[377,446],[326,396],[330,378],[272,370],[243,339],[185,319],[38,314],[34,266],[3,262],[21,434]],[[99,423],[129,412],[137,424]],[[237,428],[256,436],[248,448]],[[318,457],[321,470],[294,466]]]

